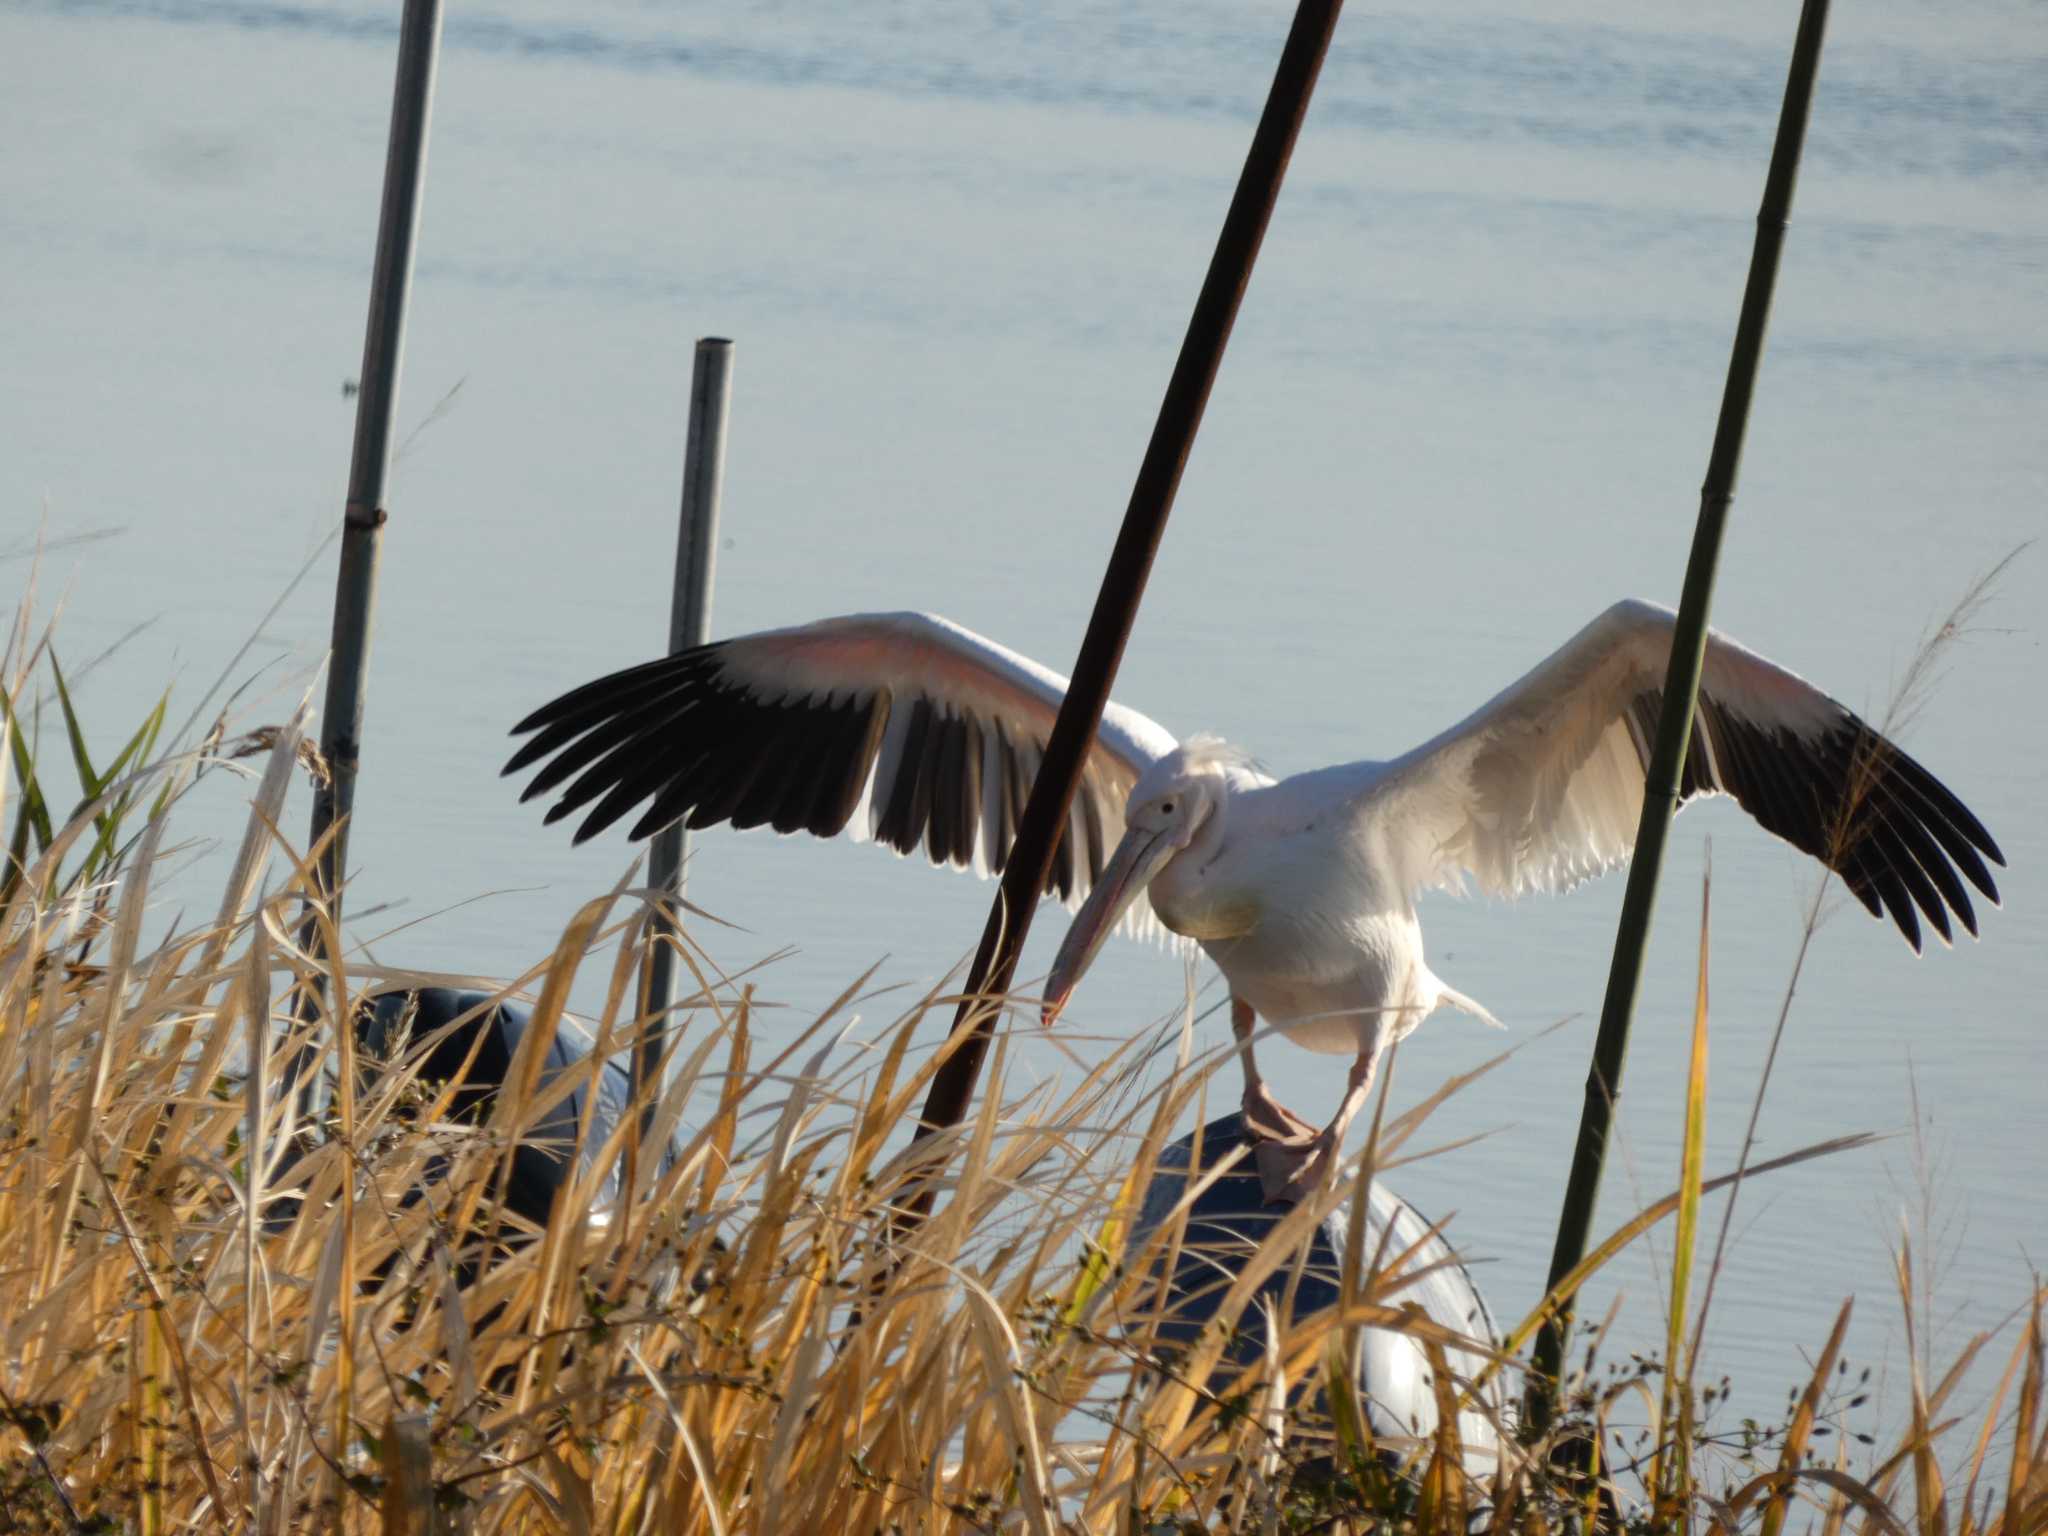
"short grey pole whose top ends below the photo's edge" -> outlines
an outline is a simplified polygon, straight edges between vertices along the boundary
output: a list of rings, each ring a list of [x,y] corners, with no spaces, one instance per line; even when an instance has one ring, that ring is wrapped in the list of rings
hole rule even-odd
[[[676,596],[668,610],[668,653],[711,639],[711,578],[719,563],[719,494],[725,487],[725,408],[733,393],[733,344],[705,336],[690,371],[690,426],[682,444],[682,526],[676,530]],[[641,1018],[647,1034],[633,1051],[633,1102],[662,1071],[662,1036],[676,997],[676,934],[682,932],[684,860],[690,831],[678,819],[653,836],[647,883],[655,889],[647,936]],[[664,899],[666,897],[666,899]],[[653,1096],[641,1108],[641,1135],[653,1118]]]

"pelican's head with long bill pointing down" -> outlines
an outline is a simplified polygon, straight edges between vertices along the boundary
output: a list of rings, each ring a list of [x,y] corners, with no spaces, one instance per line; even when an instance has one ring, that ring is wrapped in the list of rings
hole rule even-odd
[[[1214,829],[1217,811],[1241,776],[1257,782],[1241,752],[1202,735],[1190,737],[1145,770],[1124,803],[1124,838],[1102,866],[1087,901],[1073,913],[1073,926],[1053,956],[1053,975],[1044,983],[1047,1024],[1059,1018],[1087,963],[1130,903],[1159,870]]]

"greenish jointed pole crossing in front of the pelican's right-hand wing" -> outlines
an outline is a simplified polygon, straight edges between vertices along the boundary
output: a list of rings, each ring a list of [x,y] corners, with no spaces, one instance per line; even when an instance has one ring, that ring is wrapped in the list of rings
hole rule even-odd
[[[1556,1290],[1585,1257],[1585,1243],[1593,1227],[1593,1202],[1599,1194],[1599,1171],[1608,1155],[1608,1130],[1614,1124],[1614,1106],[1622,1098],[1628,1022],[1642,981],[1642,954],[1649,946],[1651,915],[1657,903],[1657,872],[1663,866],[1665,834],[1671,827],[1673,811],[1677,811],[1679,770],[1692,739],[1694,698],[1700,690],[1700,670],[1706,664],[1706,614],[1714,596],[1714,571],[1720,565],[1720,535],[1729,522],[1729,506],[1735,502],[1743,432],[1749,426],[1749,401],[1757,385],[1757,367],[1763,360],[1772,287],[1778,281],[1778,256],[1784,250],[1786,223],[1792,217],[1792,188],[1798,182],[1800,147],[1806,141],[1806,115],[1812,106],[1812,82],[1821,68],[1825,31],[1827,0],[1806,0],[1798,37],[1792,43],[1792,68],[1786,78],[1784,109],[1778,117],[1778,143],[1763,180],[1757,242],[1749,256],[1749,281],[1743,287],[1743,309],[1735,324],[1735,348],[1729,356],[1729,383],[1720,395],[1720,420],[1714,426],[1714,446],[1706,461],[1706,481],[1700,485],[1700,520],[1694,526],[1686,586],[1677,604],[1677,627],[1671,635],[1671,666],[1665,674],[1663,711],[1651,750],[1642,821],[1636,827],[1636,852],[1628,864],[1628,889],[1622,895],[1608,995],[1599,1008],[1599,1036],[1593,1042],[1593,1065],[1585,1077],[1579,1141],[1571,1157],[1571,1178],[1565,1186],[1565,1206],[1559,1214],[1556,1249],[1550,1255],[1546,1290]],[[1526,1423],[1532,1434],[1540,1434],[1550,1423],[1559,1368],[1565,1360],[1565,1335],[1571,1329],[1571,1303],[1573,1298],[1565,1296],[1536,1337],[1526,1399]]]

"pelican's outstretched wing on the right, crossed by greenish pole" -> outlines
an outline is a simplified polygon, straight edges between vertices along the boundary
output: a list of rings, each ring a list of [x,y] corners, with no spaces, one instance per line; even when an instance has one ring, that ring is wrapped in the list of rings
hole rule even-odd
[[[1386,764],[1358,809],[1411,889],[1475,877],[1556,891],[1626,862],[1663,709],[1673,614],[1618,602],[1470,719]],[[1733,795],[1812,854],[1915,950],[1923,913],[1976,932],[1964,879],[1993,903],[1982,823],[1933,774],[1812,684],[1710,635],[1679,803]]]

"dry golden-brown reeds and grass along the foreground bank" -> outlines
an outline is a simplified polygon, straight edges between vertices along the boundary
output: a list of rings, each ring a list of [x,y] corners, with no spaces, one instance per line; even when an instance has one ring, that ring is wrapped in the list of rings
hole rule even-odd
[[[1954,1432],[1974,1339],[1942,1380],[1915,1378],[1898,1446],[1860,1477],[1839,1442],[1835,1458],[1815,1454],[1839,1397],[1839,1327],[1788,1423],[1735,1475],[1696,1427],[1712,1389],[1589,1366],[1552,1442],[1507,1434],[1499,1464],[1475,1473],[1450,1411],[1468,1382],[1442,1362],[1464,1348],[1511,1368],[1540,1311],[1505,1339],[1458,1337],[1403,1307],[1413,1255],[1356,1243],[1335,1309],[1251,1307],[1356,1182],[1280,1223],[1219,1323],[1165,1352],[1157,1260],[1186,1223],[1139,1251],[1122,1233],[1153,1155],[1204,1094],[1210,1063],[1176,1057],[1169,1032],[1030,1092],[1012,1092],[999,1034],[975,1114],[911,1147],[905,1116],[944,1059],[922,1044],[938,1030],[926,1016],[956,999],[924,997],[854,1038],[844,1020],[862,979],[770,1051],[745,987],[684,944],[694,991],[653,1104],[678,1155],[633,1159],[625,1198],[602,1204],[637,1114],[606,1126],[586,1112],[584,1171],[528,1227],[498,1192],[512,1145],[592,1071],[539,1069],[578,971],[602,967],[600,1055],[647,1024],[633,1016],[639,893],[590,901],[508,985],[537,995],[508,1083],[483,1118],[451,1116],[453,1090],[420,1075],[432,1040],[356,1061],[354,1032],[336,1026],[389,977],[330,963],[322,1012],[299,1022],[317,850],[279,834],[297,725],[88,766],[86,803],[59,825],[12,702],[37,664],[39,647],[16,643],[0,713],[0,827],[27,825],[0,905],[0,1528],[1776,1532],[1794,1511],[1823,1532],[2048,1526],[2042,1292],[2019,1309],[1989,1409]],[[68,700],[63,715],[84,762]],[[176,793],[238,750],[268,764],[217,915],[145,938]],[[328,938],[324,954],[346,954]],[[1702,999],[1700,1071],[1704,1030]],[[328,1083],[305,1122],[272,1081],[301,1042]],[[1384,1124],[1380,1165],[1434,1102]],[[1587,1264],[1673,1214],[1690,1233],[1712,1188],[1698,1163]],[[922,1186],[932,1219],[893,1237]],[[1911,1327],[1905,1251],[1901,1286]],[[1339,1368],[1360,1327],[1409,1333],[1440,1364],[1436,1434],[1370,1442]],[[1245,1358],[1227,1350],[1231,1329],[1257,1337],[1249,1366],[1231,1364]],[[1655,1466],[1624,1464],[1612,1432],[1636,1399],[1673,1425]],[[1591,1473],[1563,1468],[1571,1438],[1595,1448]],[[1960,1458],[1948,1473],[1944,1454]]]

